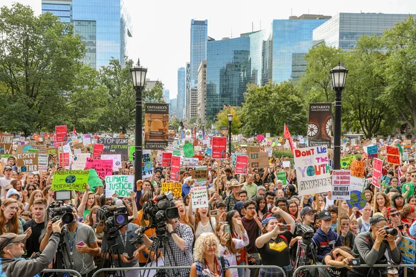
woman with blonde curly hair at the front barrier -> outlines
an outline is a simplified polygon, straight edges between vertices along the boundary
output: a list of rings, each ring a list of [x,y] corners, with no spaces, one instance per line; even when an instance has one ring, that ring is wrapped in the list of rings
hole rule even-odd
[[[202,233],[195,242],[191,266],[191,277],[205,276],[232,277],[228,260],[220,258],[220,242],[213,233]]]

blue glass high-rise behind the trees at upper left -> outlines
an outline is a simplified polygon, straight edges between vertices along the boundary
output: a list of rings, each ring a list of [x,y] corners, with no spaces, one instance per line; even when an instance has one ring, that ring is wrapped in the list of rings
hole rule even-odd
[[[83,62],[99,69],[114,57],[124,65],[132,28],[123,0],[42,0],[42,13],[46,12],[73,24],[87,46]]]

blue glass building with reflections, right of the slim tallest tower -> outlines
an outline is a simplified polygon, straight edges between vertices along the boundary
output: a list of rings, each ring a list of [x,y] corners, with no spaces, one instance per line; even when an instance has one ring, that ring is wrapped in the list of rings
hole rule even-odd
[[[206,118],[223,105],[241,106],[251,80],[250,37],[208,42]]]

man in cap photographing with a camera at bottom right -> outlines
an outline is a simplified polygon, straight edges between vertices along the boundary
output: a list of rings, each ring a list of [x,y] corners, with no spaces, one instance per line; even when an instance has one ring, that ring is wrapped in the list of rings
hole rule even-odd
[[[359,233],[354,240],[354,248],[352,253],[356,258],[360,259],[361,265],[369,265],[372,267],[376,264],[387,264],[388,260],[394,265],[401,263],[401,254],[396,244],[396,236],[388,235],[384,226],[388,225],[388,221],[383,215],[374,215],[370,220],[370,231]],[[385,257],[388,253],[388,259]],[[385,276],[387,270],[384,267],[371,268],[353,267],[349,271],[350,277],[361,276]]]

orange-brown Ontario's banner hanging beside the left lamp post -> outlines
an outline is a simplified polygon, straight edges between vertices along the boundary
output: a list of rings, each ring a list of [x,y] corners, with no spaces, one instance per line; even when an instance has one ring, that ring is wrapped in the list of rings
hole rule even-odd
[[[144,105],[144,149],[164,150],[168,147],[169,104]]]

